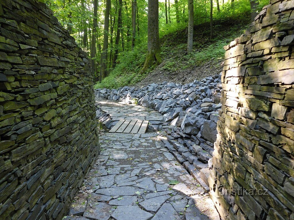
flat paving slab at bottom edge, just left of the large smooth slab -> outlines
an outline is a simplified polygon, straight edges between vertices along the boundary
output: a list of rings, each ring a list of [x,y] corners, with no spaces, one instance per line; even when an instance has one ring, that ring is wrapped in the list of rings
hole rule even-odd
[[[99,203],[92,208],[87,208],[83,216],[94,220],[108,220],[111,216],[110,210],[112,207],[106,203]]]

